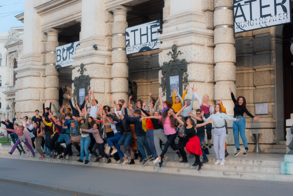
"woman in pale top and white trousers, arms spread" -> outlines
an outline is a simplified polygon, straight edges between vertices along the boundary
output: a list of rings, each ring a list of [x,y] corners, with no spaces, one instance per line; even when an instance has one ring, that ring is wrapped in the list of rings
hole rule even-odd
[[[222,112],[220,104],[217,104],[214,113],[207,119],[204,117],[204,112],[201,112],[203,121],[207,122],[209,119],[214,120],[214,133],[212,134],[214,149],[216,152],[217,161],[215,164],[224,165],[225,162],[225,141],[226,141],[226,128],[225,119],[231,121],[239,121],[241,118],[233,118]]]

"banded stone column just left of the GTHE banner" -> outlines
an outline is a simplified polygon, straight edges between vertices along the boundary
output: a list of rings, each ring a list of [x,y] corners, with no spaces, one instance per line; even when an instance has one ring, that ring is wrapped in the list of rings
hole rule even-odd
[[[126,22],[127,11],[130,8],[116,6],[109,11],[114,14],[112,24],[112,82],[111,90],[113,100],[128,100],[128,59],[126,56],[125,28],[128,27]]]

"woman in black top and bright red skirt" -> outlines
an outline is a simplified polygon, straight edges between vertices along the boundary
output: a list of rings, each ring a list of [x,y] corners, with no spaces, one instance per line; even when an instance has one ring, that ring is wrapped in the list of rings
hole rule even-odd
[[[177,120],[181,125],[184,125],[182,120],[180,119],[177,119]],[[201,152],[200,140],[196,135],[196,128],[205,126],[212,122],[214,122],[214,120],[208,120],[207,122],[204,122],[202,124],[195,124],[195,121],[193,119],[188,118],[186,120],[186,124],[184,125],[185,135],[189,139],[189,141],[185,145],[185,149],[189,154],[192,154],[192,153],[195,154],[195,160],[197,160],[198,162],[197,170],[200,170],[203,164],[200,162],[200,158],[199,158],[199,156],[202,155],[202,152]]]

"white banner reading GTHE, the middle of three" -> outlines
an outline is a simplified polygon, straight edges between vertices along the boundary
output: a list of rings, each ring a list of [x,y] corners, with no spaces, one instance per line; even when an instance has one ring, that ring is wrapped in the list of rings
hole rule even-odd
[[[156,20],[126,28],[126,55],[158,49],[160,27],[160,20]]]

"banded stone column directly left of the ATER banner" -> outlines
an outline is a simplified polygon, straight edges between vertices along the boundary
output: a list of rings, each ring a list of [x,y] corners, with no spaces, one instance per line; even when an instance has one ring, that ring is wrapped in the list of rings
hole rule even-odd
[[[227,114],[233,115],[234,104],[231,101],[229,87],[236,96],[236,51],[233,33],[233,0],[215,0],[214,2],[214,62],[215,100],[223,99]]]

